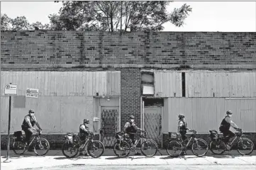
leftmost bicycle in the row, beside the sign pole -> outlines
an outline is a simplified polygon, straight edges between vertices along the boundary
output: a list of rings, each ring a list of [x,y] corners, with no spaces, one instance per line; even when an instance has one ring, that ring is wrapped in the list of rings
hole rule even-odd
[[[41,130],[35,130],[35,131],[36,131],[36,135],[33,137],[33,140],[31,140],[31,142],[28,145],[26,145],[26,143],[24,142],[21,131],[14,132],[13,148],[12,149],[15,154],[23,154],[24,152],[26,152],[28,150],[28,148],[33,143],[34,143],[33,151],[35,152],[35,154],[37,154],[38,156],[43,156],[48,153],[48,151],[50,149],[50,144],[49,144],[48,140],[46,140],[43,137],[40,137],[40,135],[42,134]],[[38,153],[39,150],[43,150],[43,149],[46,149],[45,152],[43,152],[41,154]]]

